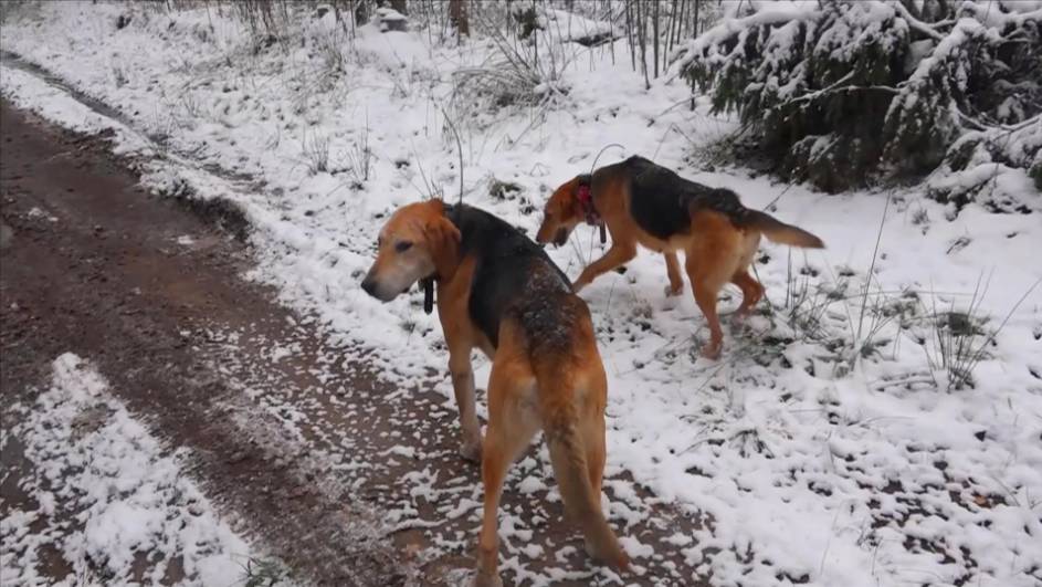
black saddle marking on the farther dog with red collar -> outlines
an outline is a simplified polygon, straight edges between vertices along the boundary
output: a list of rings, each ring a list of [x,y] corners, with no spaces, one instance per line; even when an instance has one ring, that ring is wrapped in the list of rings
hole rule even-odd
[[[662,240],[691,232],[691,214],[699,208],[720,212],[734,222],[741,222],[746,208],[728,189],[711,188],[687,180],[676,172],[633,156],[610,168],[611,175],[622,172],[630,179],[630,214],[644,232]]]

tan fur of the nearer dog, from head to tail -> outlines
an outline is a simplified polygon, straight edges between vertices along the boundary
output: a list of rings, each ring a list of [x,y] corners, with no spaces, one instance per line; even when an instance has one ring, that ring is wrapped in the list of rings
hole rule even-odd
[[[534,343],[524,321],[516,316],[503,318],[494,346],[469,310],[478,260],[460,251],[460,239],[441,201],[406,206],[381,230],[367,282],[376,292],[370,293],[387,301],[393,296],[373,285],[381,280],[394,282],[391,293],[397,295],[399,287],[432,271],[439,276],[438,316],[449,347],[449,369],[463,427],[461,452],[469,459],[481,458],[485,489],[475,585],[498,584],[496,514],[503,481],[540,429],[546,432],[566,509],[583,530],[588,551],[617,568],[627,568],[627,555],[601,512],[607,378],[589,310],[566,287],[560,306],[569,319],[560,325],[567,340],[562,349]],[[402,242],[411,243],[408,250],[399,250]],[[548,259],[547,265],[533,266],[530,280],[559,279]],[[409,275],[399,279],[403,273]],[[493,361],[484,443],[474,406],[474,348]]]

